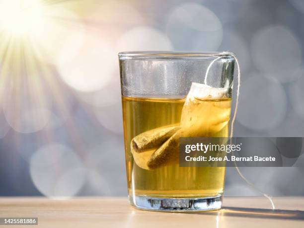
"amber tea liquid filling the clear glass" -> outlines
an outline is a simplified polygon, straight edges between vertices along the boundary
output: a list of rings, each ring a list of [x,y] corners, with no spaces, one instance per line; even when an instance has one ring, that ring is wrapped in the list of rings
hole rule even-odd
[[[230,98],[198,99],[195,102],[196,105],[188,107],[189,110],[194,109],[191,112],[195,118],[188,118],[187,114],[183,114],[183,125],[186,126],[187,131],[193,129],[193,137],[195,137],[196,132],[201,131],[202,128],[197,127],[199,126],[196,124],[198,122],[191,125],[191,121],[202,120],[203,131],[207,132],[209,137],[228,137]],[[223,194],[225,167],[179,167],[179,163],[173,163],[147,170],[139,167],[134,161],[131,153],[131,140],[143,132],[162,126],[179,124],[185,99],[123,97],[122,103],[130,195],[195,198]],[[222,122],[221,125],[213,126],[215,120],[223,118],[223,115],[227,121]]]

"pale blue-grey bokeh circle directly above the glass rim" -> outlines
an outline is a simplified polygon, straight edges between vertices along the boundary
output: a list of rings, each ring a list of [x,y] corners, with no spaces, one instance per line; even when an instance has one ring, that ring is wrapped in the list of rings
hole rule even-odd
[[[197,3],[183,3],[168,14],[166,34],[175,50],[215,51],[223,39],[217,15]]]

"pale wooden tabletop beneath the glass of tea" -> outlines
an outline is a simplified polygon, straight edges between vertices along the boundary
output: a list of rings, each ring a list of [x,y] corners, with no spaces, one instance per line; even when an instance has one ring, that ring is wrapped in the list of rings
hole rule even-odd
[[[272,211],[265,198],[225,197],[219,211],[165,213],[136,210],[126,198],[0,198],[0,217],[38,217],[43,228],[304,228],[304,197],[274,203]]]

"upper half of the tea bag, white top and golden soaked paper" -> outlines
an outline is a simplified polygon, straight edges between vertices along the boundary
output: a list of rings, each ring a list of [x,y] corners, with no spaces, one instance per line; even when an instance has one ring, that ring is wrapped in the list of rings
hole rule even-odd
[[[181,115],[183,137],[208,137],[221,131],[230,119],[228,88],[192,83]],[[219,100],[224,100],[219,102]],[[228,101],[228,102],[227,102]]]

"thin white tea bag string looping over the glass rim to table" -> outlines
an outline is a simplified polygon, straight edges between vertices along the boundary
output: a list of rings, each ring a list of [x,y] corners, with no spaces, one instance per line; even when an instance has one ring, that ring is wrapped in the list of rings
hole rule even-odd
[[[221,55],[225,55],[225,54],[229,54],[229,55],[232,55],[233,58],[235,59],[235,62],[236,62],[236,65],[237,65],[237,90],[236,90],[236,102],[235,102],[235,109],[234,109],[234,113],[233,113],[233,117],[232,117],[232,120],[231,120],[231,132],[230,132],[230,144],[232,143],[232,137],[233,137],[233,127],[234,127],[234,122],[235,122],[235,118],[236,118],[236,113],[237,113],[237,108],[238,108],[238,97],[239,97],[239,88],[240,88],[240,67],[239,67],[239,64],[238,64],[238,59],[237,57],[233,54],[233,53],[230,53],[230,52],[222,52],[220,53]],[[207,78],[208,78],[208,75],[209,75],[209,71],[212,67],[212,65],[218,61],[219,59],[222,59],[224,58],[224,56],[220,56],[216,59],[214,59],[210,65],[208,66],[207,68],[207,71],[206,71],[206,75],[205,75],[205,80],[204,80],[204,83],[207,85]],[[232,88],[233,88],[233,85],[232,85]],[[233,152],[232,152],[233,153]],[[237,173],[240,175],[240,177],[250,186],[252,187],[254,190],[256,190],[257,192],[261,193],[264,197],[266,197],[270,203],[271,203],[271,206],[272,206],[272,209],[275,210],[275,205],[273,203],[273,200],[271,198],[271,196],[267,195],[266,193],[264,193],[262,190],[260,190],[258,187],[256,187],[253,183],[251,183],[240,171],[239,167],[237,166],[236,162],[234,161],[234,164],[235,164],[235,169],[237,171]]]

